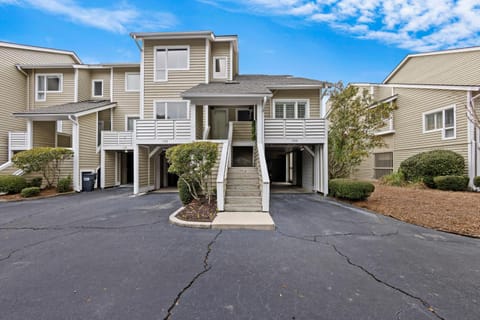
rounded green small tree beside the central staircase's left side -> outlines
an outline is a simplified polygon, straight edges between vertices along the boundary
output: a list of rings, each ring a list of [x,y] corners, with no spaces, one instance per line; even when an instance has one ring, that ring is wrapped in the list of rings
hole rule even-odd
[[[217,145],[212,142],[193,142],[172,147],[166,153],[170,163],[168,172],[178,175],[185,182],[194,199],[199,200],[204,196],[210,202],[213,188],[209,177],[217,155]]]

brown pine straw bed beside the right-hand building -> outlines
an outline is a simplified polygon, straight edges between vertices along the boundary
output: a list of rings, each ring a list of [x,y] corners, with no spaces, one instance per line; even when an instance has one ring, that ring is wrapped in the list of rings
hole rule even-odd
[[[353,205],[419,226],[480,238],[480,193],[375,185]]]

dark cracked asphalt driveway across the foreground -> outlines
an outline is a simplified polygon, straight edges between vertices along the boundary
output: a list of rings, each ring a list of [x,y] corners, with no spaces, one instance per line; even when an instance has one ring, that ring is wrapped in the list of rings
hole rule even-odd
[[[176,194],[0,203],[0,319],[475,319],[480,240],[273,195],[276,231],[168,223]]]

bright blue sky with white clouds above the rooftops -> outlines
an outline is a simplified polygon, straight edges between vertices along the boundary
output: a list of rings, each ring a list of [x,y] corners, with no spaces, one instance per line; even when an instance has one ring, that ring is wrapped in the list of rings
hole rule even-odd
[[[241,73],[381,82],[411,52],[480,45],[480,0],[0,0],[0,40],[138,62],[132,31],[237,34]]]

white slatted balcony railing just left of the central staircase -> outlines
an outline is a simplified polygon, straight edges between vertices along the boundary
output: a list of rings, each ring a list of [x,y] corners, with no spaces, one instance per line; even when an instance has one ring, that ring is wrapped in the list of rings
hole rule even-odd
[[[136,120],[135,139],[137,143],[190,142],[190,120]]]

